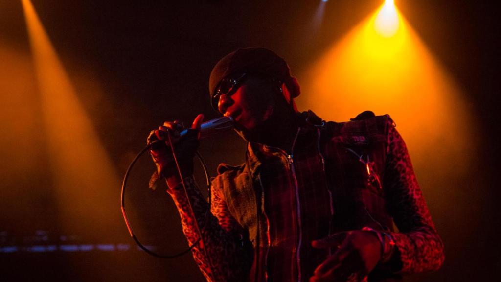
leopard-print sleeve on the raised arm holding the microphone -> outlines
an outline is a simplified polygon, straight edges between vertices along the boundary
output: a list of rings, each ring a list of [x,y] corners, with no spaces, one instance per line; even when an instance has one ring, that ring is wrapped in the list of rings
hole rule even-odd
[[[252,265],[245,236],[236,220],[227,211],[219,187],[212,186],[212,207],[201,195],[193,177],[185,178],[182,184],[167,190],[172,196],[181,217],[183,232],[193,247],[193,257],[207,281],[243,281]],[[192,210],[191,210],[192,209]],[[252,249],[250,249],[252,252]]]

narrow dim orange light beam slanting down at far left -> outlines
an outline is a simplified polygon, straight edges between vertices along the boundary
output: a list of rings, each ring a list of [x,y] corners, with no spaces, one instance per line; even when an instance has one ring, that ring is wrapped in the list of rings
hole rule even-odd
[[[32,3],[22,3],[47,133],[57,220],[70,234],[113,232],[122,227],[115,169]],[[115,202],[117,206],[110,205]]]

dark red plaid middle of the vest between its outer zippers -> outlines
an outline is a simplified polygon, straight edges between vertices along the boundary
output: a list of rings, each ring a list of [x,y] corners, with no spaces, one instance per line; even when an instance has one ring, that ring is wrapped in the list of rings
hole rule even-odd
[[[249,145],[249,163],[263,164],[258,189],[264,192],[263,214],[270,234],[269,280],[296,281],[305,276],[308,280],[326,258],[326,251],[310,245],[328,236],[333,213],[318,134],[320,129],[301,128],[290,155]]]

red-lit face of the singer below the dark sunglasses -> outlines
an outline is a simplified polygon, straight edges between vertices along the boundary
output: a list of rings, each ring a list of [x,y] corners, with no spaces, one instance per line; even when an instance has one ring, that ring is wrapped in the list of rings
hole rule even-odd
[[[269,81],[248,77],[233,95],[219,97],[218,109],[235,120],[239,133],[249,136],[273,113],[276,95]]]

